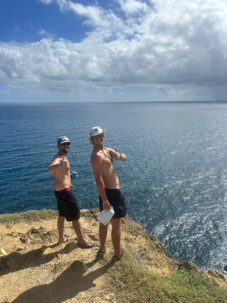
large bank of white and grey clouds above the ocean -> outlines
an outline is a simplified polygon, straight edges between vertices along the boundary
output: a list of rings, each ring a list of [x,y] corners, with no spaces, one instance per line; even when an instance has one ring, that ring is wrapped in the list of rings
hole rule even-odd
[[[201,92],[205,99],[215,98],[219,87],[226,92],[225,0],[119,0],[109,10],[57,3],[92,29],[77,43],[44,29],[40,34],[48,38],[36,43],[0,43],[0,81],[13,90],[29,90],[32,83],[32,92],[51,95],[87,96],[102,88],[114,95],[114,88],[135,85],[154,97],[202,98]]]

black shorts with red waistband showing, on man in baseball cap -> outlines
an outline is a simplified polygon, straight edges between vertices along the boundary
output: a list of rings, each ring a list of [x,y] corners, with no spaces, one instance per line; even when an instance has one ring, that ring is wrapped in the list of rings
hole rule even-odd
[[[54,195],[58,202],[59,217],[65,217],[69,222],[80,218],[80,206],[72,190],[63,192],[54,190]]]

